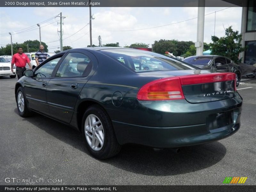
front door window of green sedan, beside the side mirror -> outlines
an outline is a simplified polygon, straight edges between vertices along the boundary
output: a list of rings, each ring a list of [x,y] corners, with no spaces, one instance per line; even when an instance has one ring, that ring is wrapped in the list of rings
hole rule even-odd
[[[40,68],[38,68],[35,71],[35,76],[38,78],[49,78],[52,75],[53,69],[55,68],[56,64],[58,63],[58,61],[60,60],[61,56],[48,61],[47,63],[44,63],[43,66],[41,66]]]

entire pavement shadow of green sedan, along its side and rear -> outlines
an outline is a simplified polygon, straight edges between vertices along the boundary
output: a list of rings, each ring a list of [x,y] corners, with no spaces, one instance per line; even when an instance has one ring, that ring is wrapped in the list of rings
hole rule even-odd
[[[18,114],[17,108],[14,111]],[[36,113],[23,120],[90,155],[84,147],[81,133],[71,127]],[[117,156],[100,161],[129,172],[165,176],[195,172],[211,167],[226,154],[225,146],[218,141],[180,149],[180,153],[174,153],[171,149],[154,151],[150,147],[127,144],[123,146]]]

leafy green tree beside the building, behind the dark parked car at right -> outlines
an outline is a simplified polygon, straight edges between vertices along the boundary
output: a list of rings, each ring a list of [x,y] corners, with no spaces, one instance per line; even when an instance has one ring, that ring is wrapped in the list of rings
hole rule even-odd
[[[212,43],[210,44],[213,55],[221,55],[230,58],[235,62],[240,62],[238,56],[240,52],[246,50],[242,44],[242,34],[234,31],[232,26],[225,29],[225,36],[218,38],[212,36]]]

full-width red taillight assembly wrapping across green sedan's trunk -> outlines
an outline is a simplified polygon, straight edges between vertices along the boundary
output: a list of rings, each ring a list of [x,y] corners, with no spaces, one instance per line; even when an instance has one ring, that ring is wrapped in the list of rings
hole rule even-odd
[[[236,91],[235,73],[210,73],[168,77],[158,79],[142,86],[137,94],[138,100],[178,100],[185,99],[181,85],[204,84],[221,81],[234,81]]]

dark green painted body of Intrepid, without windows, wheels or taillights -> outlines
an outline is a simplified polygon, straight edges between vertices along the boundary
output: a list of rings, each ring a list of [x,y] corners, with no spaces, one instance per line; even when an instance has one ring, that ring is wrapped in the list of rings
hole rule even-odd
[[[137,143],[154,148],[177,148],[220,140],[239,129],[241,96],[235,91],[223,92],[217,97],[211,93],[213,85],[210,83],[182,85],[185,99],[181,100],[137,99],[140,88],[154,80],[209,74],[211,71],[190,68],[137,73],[106,55],[104,50],[108,49],[115,50],[101,47],[58,53],[34,69],[36,73],[45,63],[60,58],[57,64],[49,64],[52,70],[49,77],[24,76],[16,83],[15,94],[22,87],[29,110],[79,131],[85,110],[99,105],[111,119],[120,145]],[[144,51],[136,51],[144,54]],[[88,73],[74,77],[58,75],[61,62],[71,53],[88,56],[91,61]],[[147,54],[158,56],[151,52]],[[181,61],[173,62],[182,64]],[[68,65],[71,66],[72,62],[69,61]],[[224,84],[219,82],[220,87]],[[207,97],[201,96],[202,89]]]

